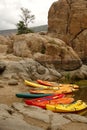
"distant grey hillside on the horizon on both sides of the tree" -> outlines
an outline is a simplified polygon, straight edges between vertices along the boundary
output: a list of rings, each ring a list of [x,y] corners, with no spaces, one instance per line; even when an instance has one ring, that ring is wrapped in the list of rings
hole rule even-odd
[[[30,29],[33,32],[47,31],[47,28],[48,28],[47,25],[30,27]],[[16,34],[16,33],[17,33],[17,29],[0,30],[0,35],[5,35],[5,36],[10,34]]]

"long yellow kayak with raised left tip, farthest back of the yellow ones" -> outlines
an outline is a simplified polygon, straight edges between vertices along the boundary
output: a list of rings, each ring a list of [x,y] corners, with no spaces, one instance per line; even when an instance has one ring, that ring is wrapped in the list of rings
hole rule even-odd
[[[46,86],[46,85],[41,85],[38,83],[30,82],[28,80],[24,81],[25,85],[31,86],[31,87],[36,87],[36,88],[43,88],[43,89],[51,89],[51,90],[60,90],[60,89],[67,89],[67,88],[72,88],[73,91],[78,90],[79,86],[73,85],[73,84],[59,84],[58,86]]]

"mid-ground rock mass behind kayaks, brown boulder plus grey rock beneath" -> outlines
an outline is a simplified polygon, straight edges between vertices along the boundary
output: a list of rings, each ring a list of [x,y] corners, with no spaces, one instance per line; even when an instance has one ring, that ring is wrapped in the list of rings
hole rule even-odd
[[[1,76],[12,80],[11,84],[15,84],[12,77],[58,81],[65,74],[61,71],[69,71],[74,79],[87,79],[87,67],[84,69],[75,51],[58,38],[31,33],[3,39],[7,47],[0,53]]]

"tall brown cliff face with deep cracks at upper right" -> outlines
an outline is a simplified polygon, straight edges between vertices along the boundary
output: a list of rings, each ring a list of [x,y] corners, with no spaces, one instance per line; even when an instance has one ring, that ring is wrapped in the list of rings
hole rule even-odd
[[[87,0],[58,0],[48,12],[48,33],[87,58]]]

